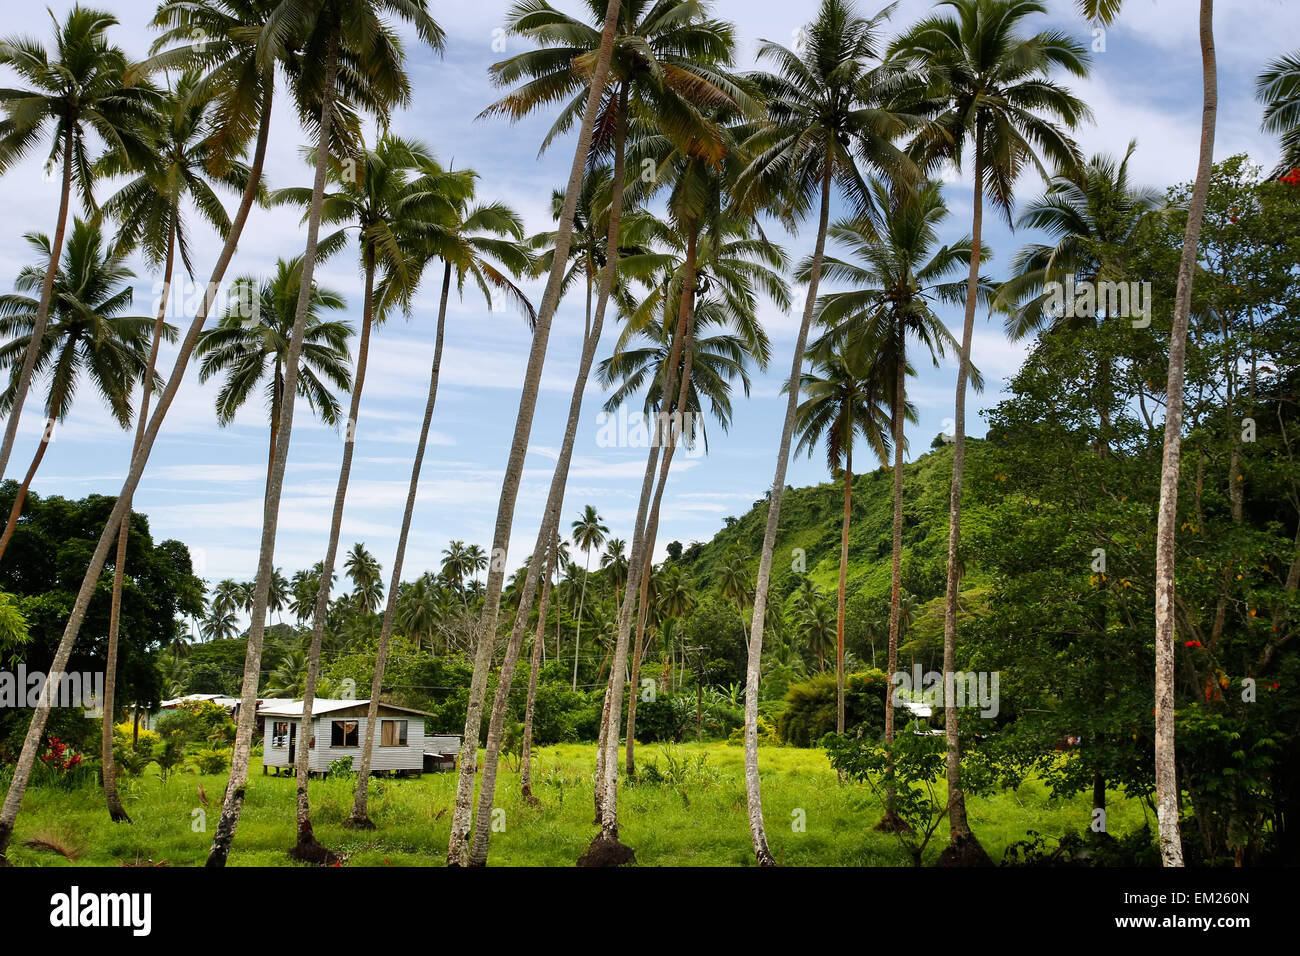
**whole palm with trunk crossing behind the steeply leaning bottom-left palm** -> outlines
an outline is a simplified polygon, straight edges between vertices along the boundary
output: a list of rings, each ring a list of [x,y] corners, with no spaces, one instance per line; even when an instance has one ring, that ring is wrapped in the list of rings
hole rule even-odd
[[[170,302],[172,278],[176,269],[176,254],[181,254],[187,278],[194,280],[194,264],[190,261],[190,226],[185,215],[186,203],[211,225],[217,234],[230,230],[230,217],[209,185],[220,183],[237,193],[248,185],[248,166],[229,161],[218,176],[212,176],[208,163],[213,150],[208,143],[208,111],[211,99],[199,88],[199,74],[182,73],[168,91],[161,104],[159,118],[162,122],[157,137],[157,152],[150,156],[150,165],[130,178],[103,206],[104,215],[118,224],[117,248],[126,254],[139,248],[146,259],[162,269],[162,286],[159,298],[157,317],[153,321],[153,337],[150,343],[150,358],[140,388],[140,406],[135,414],[135,441],[131,445],[131,458],[140,449],[144,427],[150,419],[150,399],[153,395],[153,378],[157,368],[159,346],[162,341],[162,323]],[[108,174],[130,174],[131,157],[122,152],[110,152],[103,157],[99,169]],[[108,813],[114,822],[130,822],[117,793],[117,765],[113,761],[113,710],[117,685],[117,633],[122,613],[122,587],[126,576],[126,544],[130,533],[130,506],[127,516],[117,532],[117,559],[113,563],[113,596],[108,618],[108,649],[104,674],[104,719],[100,734],[100,756],[104,777],[104,793],[108,800]]]

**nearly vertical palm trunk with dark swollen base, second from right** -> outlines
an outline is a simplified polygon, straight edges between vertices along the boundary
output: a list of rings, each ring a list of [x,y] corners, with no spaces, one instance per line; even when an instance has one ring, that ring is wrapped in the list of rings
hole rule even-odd
[[[971,267],[966,278],[966,316],[962,323],[962,351],[957,367],[957,395],[953,410],[953,480],[948,498],[948,592],[944,601],[944,732],[948,741],[948,851],[957,855],[962,862],[963,853],[971,855],[971,862],[985,862],[987,856],[970,830],[966,819],[966,797],[962,793],[961,740],[957,732],[956,695],[946,693],[953,683],[957,667],[957,600],[961,589],[961,563],[958,549],[962,535],[962,481],[966,476],[966,382],[971,368],[971,339],[975,334],[975,304],[979,293],[980,241],[984,226],[984,126],[975,122],[975,186],[971,212]],[[890,646],[893,657],[889,661],[889,674],[897,667],[897,648]],[[887,713],[893,715],[892,701]],[[890,719],[890,724],[893,721]],[[893,727],[889,727],[888,743],[893,743]],[[892,809],[892,808],[890,808]],[[983,857],[983,860],[982,860]]]

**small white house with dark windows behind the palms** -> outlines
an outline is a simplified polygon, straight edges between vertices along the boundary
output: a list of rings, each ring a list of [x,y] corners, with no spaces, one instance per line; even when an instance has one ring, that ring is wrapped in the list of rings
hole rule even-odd
[[[312,730],[303,734],[300,700],[268,700],[257,709],[264,722],[261,771],[268,767],[292,773],[298,748],[311,748],[308,771],[324,774],[341,757],[352,758],[352,769],[361,767],[365,744],[368,700],[317,698],[312,704]],[[376,774],[420,774],[424,771],[425,718],[422,710],[380,704],[380,726],[374,730],[374,752],[370,771]]]

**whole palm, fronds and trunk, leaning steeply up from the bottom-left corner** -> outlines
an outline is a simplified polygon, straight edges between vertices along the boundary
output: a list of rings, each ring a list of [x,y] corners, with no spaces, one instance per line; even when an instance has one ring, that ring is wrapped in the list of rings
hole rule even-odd
[[[208,139],[212,148],[209,170],[220,172],[224,164],[242,152],[243,146],[252,137],[254,148],[248,166],[248,185],[244,187],[239,207],[230,221],[230,230],[226,233],[221,252],[213,264],[199,308],[181,341],[166,386],[159,395],[157,410],[150,418],[140,449],[131,460],[131,467],[122,480],[122,489],[104,523],[95,550],[91,553],[62,637],[60,637],[55,650],[51,674],[62,672],[77,636],[81,633],[86,609],[99,587],[100,574],[108,561],[108,549],[121,528],[122,519],[130,514],[131,496],[144,473],[162,420],[181,388],[190,354],[203,332],[203,325],[216,299],[216,291],[225,278],[239,237],[243,234],[244,224],[248,221],[254,200],[261,189],[261,169],[270,135],[274,70],[277,65],[287,68],[291,62],[283,44],[259,43],[261,26],[270,7],[272,0],[169,0],[159,8],[155,16],[153,23],[162,29],[162,35],[155,42],[153,49],[156,52],[142,65],[142,72],[194,66],[203,73],[203,83],[211,88],[214,100],[213,133]],[[48,718],[48,704],[38,705],[32,711],[4,808],[0,809],[0,860],[4,858],[4,851],[13,835],[13,822],[22,806],[22,797],[35,766]],[[252,721],[251,713],[247,719]]]

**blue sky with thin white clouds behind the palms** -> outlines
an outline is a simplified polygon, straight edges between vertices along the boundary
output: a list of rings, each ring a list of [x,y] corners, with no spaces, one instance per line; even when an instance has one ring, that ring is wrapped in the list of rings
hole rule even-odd
[[[569,0],[555,1],[564,9],[578,9]],[[61,17],[70,5],[60,0],[52,9]],[[153,3],[120,0],[100,5],[113,9],[121,20],[116,40],[130,53],[143,55],[151,40],[147,21]],[[486,68],[503,56],[500,38],[494,30],[503,22],[507,3],[433,0],[430,7],[448,34],[446,56],[438,59],[413,40],[410,43],[415,98],[410,109],[395,117],[395,130],[425,140],[442,160],[454,160],[458,168],[478,170],[480,196],[514,206],[529,233],[550,228],[550,194],[568,172],[572,142],[556,143],[550,152],[538,156],[550,117],[516,125],[474,118],[497,95],[488,82]],[[879,7],[876,3],[861,4],[863,12],[875,12]],[[890,31],[905,29],[930,7],[930,3],[904,0],[893,14]],[[759,38],[789,44],[814,8],[810,0],[715,3],[716,14],[737,25],[741,66],[753,65]],[[1067,30],[1089,46],[1098,39],[1071,3],[1050,0],[1049,8],[1049,16],[1039,18],[1041,26]],[[16,22],[10,8],[3,33],[21,31],[48,42],[48,17],[38,7],[25,9],[27,16]],[[1221,103],[1216,159],[1247,151],[1270,166],[1275,161],[1275,144],[1258,131],[1260,109],[1253,100],[1253,82],[1268,60],[1300,40],[1294,13],[1295,7],[1288,0],[1238,0],[1219,5],[1216,31]],[[1190,179],[1200,131],[1196,4],[1192,0],[1128,0],[1122,20],[1100,39],[1105,49],[1095,55],[1092,75],[1083,82],[1070,82],[1095,113],[1095,124],[1076,134],[1082,148],[1089,155],[1098,151],[1122,153],[1128,140],[1136,138],[1139,150],[1132,173],[1138,182],[1164,187]],[[520,49],[519,40],[506,40],[504,55]],[[10,79],[4,77],[0,82],[8,85]],[[304,134],[281,105],[266,160],[266,179],[272,187],[309,183],[309,169],[299,155],[303,140]],[[9,224],[0,233],[0,274],[14,276],[32,260],[20,232],[53,228],[57,181],[42,174],[36,159],[10,170],[0,179],[0,189]],[[1022,182],[1020,195],[1032,196],[1040,189],[1037,177],[1031,176]],[[970,230],[968,179],[949,183],[946,198],[952,216],[942,238],[950,241]],[[994,252],[989,273],[1000,278],[1015,247],[1032,237],[1011,234],[1005,224],[992,217],[985,217],[985,242]],[[792,256],[801,256],[811,251],[811,232],[810,226],[798,237],[779,238]],[[202,229],[196,230],[196,238],[195,268],[198,280],[205,281],[220,242]],[[299,255],[302,245],[303,230],[296,213],[257,209],[228,278],[268,273],[277,258]],[[139,311],[147,313],[155,277],[142,263],[136,267],[140,277],[136,302]],[[337,256],[318,269],[317,280],[346,295],[347,317],[359,325],[361,281],[355,256]],[[530,290],[534,300],[540,299],[540,284],[532,284]],[[801,304],[802,290],[796,291],[796,298]],[[385,566],[393,559],[410,458],[424,410],[436,307],[437,290],[425,289],[411,321],[396,316],[380,326],[372,339],[342,546],[364,541]],[[562,303],[555,319],[515,512],[511,567],[526,557],[536,537],[577,365],[582,312],[582,300],[575,291]],[[959,337],[959,312],[950,310],[942,316]],[[754,373],[749,399],[737,397],[731,432],[724,434],[710,428],[707,457],[679,457],[675,462],[660,519],[660,557],[664,545],[673,538],[684,542],[707,540],[727,515],[746,511],[771,484],[785,407],[780,385],[789,371],[798,310],[785,315],[764,303],[762,317],[772,337],[772,365],[767,372]],[[598,359],[608,355],[612,342],[614,334],[607,330]],[[406,578],[437,568],[448,540],[462,538],[485,550],[490,548],[528,349],[526,329],[517,315],[489,313],[482,298],[468,293],[463,302],[452,300],[442,385]],[[987,323],[980,316],[974,362],[985,375],[987,389],[968,402],[971,433],[984,432],[984,423],[974,412],[1000,401],[1004,380],[1014,373],[1023,354],[1023,346],[1011,345],[1002,337],[1000,323]],[[164,371],[170,369],[173,358],[174,351],[164,350]],[[926,363],[919,372],[909,385],[920,415],[919,424],[909,432],[913,457],[928,447],[930,440],[953,414],[954,363],[939,369]],[[213,412],[216,388],[214,382],[199,385],[196,368],[191,364],[136,492],[135,507],[148,514],[155,538],[185,541],[195,554],[196,570],[209,581],[221,578],[247,580],[254,575],[257,558],[266,411],[261,403],[251,403],[230,427],[218,428]],[[43,395],[39,382],[35,395]],[[38,401],[35,397],[29,399],[8,477],[21,477],[35,451],[42,419]],[[564,528],[584,505],[592,503],[614,535],[630,538],[645,453],[602,447],[597,442],[597,414],[602,401],[599,386],[592,384],[569,476]],[[38,472],[36,493],[116,494],[121,485],[130,434],[113,424],[90,389],[81,393],[78,402],[57,431]],[[276,550],[276,564],[286,574],[322,557],[342,451],[339,432],[311,420],[302,403],[299,410]],[[826,463],[820,454],[792,462],[790,484],[824,480]],[[809,557],[812,562],[819,559]]]

